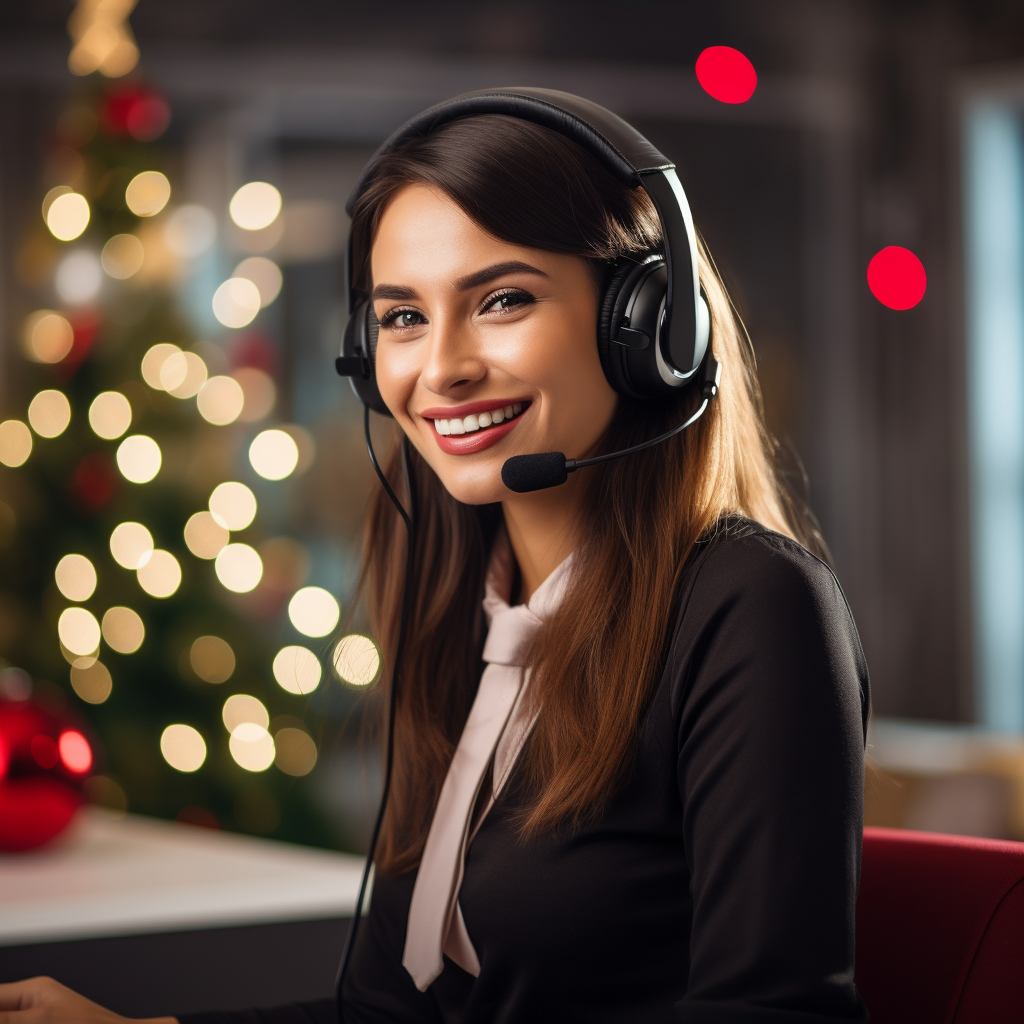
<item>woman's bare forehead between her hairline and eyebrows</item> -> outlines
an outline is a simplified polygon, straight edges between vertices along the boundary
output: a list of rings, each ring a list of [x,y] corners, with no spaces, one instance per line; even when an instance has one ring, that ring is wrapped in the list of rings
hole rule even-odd
[[[506,260],[536,264],[539,255],[496,239],[439,189],[411,184],[385,208],[370,265],[376,285],[412,285],[451,282]]]

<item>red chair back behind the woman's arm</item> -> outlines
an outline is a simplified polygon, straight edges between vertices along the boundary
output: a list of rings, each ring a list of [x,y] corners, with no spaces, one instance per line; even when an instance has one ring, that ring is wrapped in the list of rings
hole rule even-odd
[[[1024,1022],[1024,843],[865,828],[856,982],[871,1024]]]

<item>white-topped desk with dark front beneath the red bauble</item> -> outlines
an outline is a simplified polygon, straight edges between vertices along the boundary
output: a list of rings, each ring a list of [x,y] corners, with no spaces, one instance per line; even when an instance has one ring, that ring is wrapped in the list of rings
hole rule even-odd
[[[329,996],[362,858],[102,811],[0,855],[0,981],[129,1016]]]

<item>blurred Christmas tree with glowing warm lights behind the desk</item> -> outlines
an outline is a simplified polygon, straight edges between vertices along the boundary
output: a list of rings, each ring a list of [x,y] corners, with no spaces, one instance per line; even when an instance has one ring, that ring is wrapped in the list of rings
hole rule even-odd
[[[73,70],[102,72],[87,29]],[[378,652],[359,634],[335,642],[339,603],[304,585],[309,555],[287,531],[282,488],[315,446],[273,422],[260,310],[276,264],[243,259],[206,297],[221,336],[198,335],[223,212],[176,201],[170,114],[141,80],[93,75],[55,126],[18,257],[38,304],[0,423],[0,667],[85,716],[105,752],[96,802],[352,847],[314,797],[337,730],[309,694],[323,710],[333,687],[345,716]],[[258,232],[281,208],[249,182],[229,215]]]

